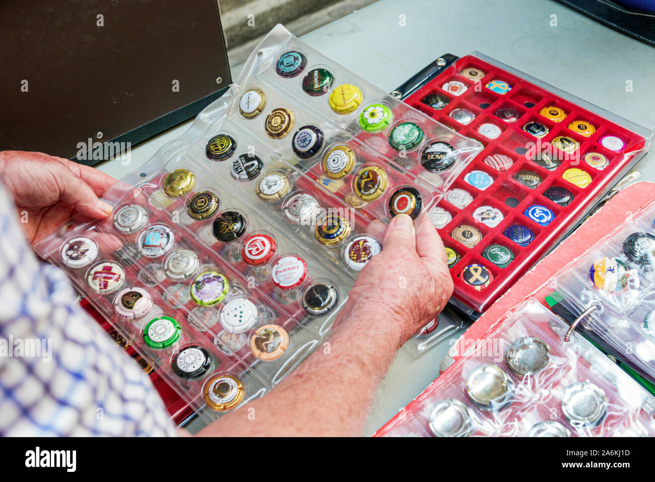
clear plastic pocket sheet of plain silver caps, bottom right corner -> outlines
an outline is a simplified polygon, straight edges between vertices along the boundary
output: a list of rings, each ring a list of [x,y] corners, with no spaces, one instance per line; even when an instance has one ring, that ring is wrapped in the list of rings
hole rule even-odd
[[[654,435],[655,399],[534,298],[377,436]]]

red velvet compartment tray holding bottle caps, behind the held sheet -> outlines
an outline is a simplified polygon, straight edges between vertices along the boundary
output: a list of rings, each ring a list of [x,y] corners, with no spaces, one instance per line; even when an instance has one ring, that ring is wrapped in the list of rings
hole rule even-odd
[[[485,76],[476,84],[476,81],[459,74],[467,67],[475,67],[485,72]],[[505,94],[493,92],[486,87],[486,84],[492,80],[505,81],[510,84],[512,89]],[[443,85],[449,81],[460,81],[468,89],[459,96],[453,96],[443,90]],[[428,94],[434,93],[450,100],[442,110],[434,110],[422,102]],[[451,275],[455,283],[453,296],[477,311],[486,310],[537,260],[550,251],[563,235],[573,228],[592,203],[596,202],[597,197],[618,180],[631,159],[645,146],[645,139],[634,132],[475,56],[464,56],[458,59],[438,77],[405,99],[405,102],[455,129],[460,134],[479,140],[485,146],[484,150],[464,169],[451,186],[451,189],[461,188],[468,191],[474,197],[474,201],[464,209],[450,205],[445,199],[439,203],[440,207],[449,211],[453,216],[453,220],[440,230],[443,242],[447,247],[455,249],[461,256],[460,261],[451,268]],[[565,119],[558,123],[540,115],[540,110],[546,106],[557,106],[563,109],[566,113]],[[495,112],[503,107],[514,108],[519,111],[521,117],[515,123],[502,121],[495,116]],[[449,113],[457,108],[466,108],[474,112],[476,118],[468,125],[458,123],[449,117]],[[584,137],[568,128],[572,121],[580,120],[588,121],[595,127],[596,130],[591,136]],[[538,121],[546,125],[549,129],[548,134],[539,140],[523,131],[521,127],[529,121]],[[493,123],[500,127],[502,134],[496,139],[489,139],[479,134],[477,127],[482,123]],[[605,135],[618,136],[625,142],[624,149],[610,151],[601,146],[600,139]],[[531,160],[528,148],[535,144],[538,146],[539,141],[542,148],[547,148],[550,141],[557,136],[570,136],[580,142],[580,147],[569,159],[561,151],[557,151],[559,156],[565,157],[565,159],[557,169],[548,171]],[[544,146],[544,144],[546,145]],[[609,165],[602,171],[594,169],[584,161],[584,154],[594,151],[602,153],[609,160]],[[487,155],[495,153],[508,155],[514,160],[514,165],[506,172],[498,172],[485,165],[483,159]],[[578,188],[565,180],[562,174],[570,167],[578,167],[588,172],[592,178],[591,184],[586,188]],[[523,169],[534,171],[542,177],[542,182],[536,189],[529,189],[514,179],[514,174]],[[491,174],[494,178],[493,184],[486,190],[480,191],[464,181],[464,176],[474,170]],[[550,186],[567,188],[574,195],[574,199],[565,207],[553,203],[542,195]],[[509,195],[519,200],[519,204],[514,208],[504,203],[504,199]],[[485,205],[500,209],[504,215],[502,222],[495,228],[489,228],[485,224],[476,222],[472,217],[478,207]],[[523,214],[531,205],[548,207],[555,213],[555,219],[548,226],[540,226],[533,222]],[[475,226],[483,234],[482,240],[475,247],[466,248],[451,237],[452,231],[462,224]],[[534,240],[527,247],[521,247],[503,235],[506,228],[512,224],[523,224],[534,232]],[[514,252],[515,258],[506,268],[499,268],[483,258],[482,252],[493,243],[504,245]],[[458,278],[460,271],[469,264],[482,264],[491,271],[494,279],[489,286],[477,291]]]

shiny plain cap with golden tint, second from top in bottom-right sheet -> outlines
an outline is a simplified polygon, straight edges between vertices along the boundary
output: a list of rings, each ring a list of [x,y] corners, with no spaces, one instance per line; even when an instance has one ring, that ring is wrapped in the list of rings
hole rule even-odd
[[[512,380],[491,363],[479,365],[468,374],[466,393],[483,410],[500,411],[514,399]]]

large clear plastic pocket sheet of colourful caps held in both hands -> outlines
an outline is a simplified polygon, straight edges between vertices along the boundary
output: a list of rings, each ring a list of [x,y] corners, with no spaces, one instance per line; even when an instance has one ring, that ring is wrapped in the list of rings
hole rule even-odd
[[[277,26],[107,220],[37,251],[211,420],[324,340],[382,249],[369,223],[418,222],[480,149]]]

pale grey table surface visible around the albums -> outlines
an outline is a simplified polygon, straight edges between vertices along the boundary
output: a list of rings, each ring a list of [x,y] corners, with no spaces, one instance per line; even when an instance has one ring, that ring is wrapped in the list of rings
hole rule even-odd
[[[655,128],[655,49],[551,0],[381,0],[302,39],[386,91],[441,54],[479,50]],[[239,68],[233,70],[236,78]],[[121,178],[189,125],[132,148],[130,165],[106,161],[99,169]],[[641,179],[655,181],[655,153],[646,155],[637,169]],[[453,342],[445,340],[421,356],[409,344],[398,351],[377,390],[365,433],[377,430],[436,378]]]

